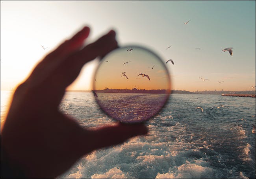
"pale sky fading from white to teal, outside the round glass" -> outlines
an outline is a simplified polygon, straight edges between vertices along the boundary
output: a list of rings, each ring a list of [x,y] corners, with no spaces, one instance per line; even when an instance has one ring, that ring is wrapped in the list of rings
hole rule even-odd
[[[255,1],[0,3],[1,90],[15,89],[46,54],[83,26],[91,29],[86,44],[112,29],[121,47],[148,48],[163,63],[173,59],[174,65],[165,64],[173,90],[255,90]],[[222,51],[228,47],[234,48],[232,56]],[[90,90],[99,63],[85,64],[68,89]]]

